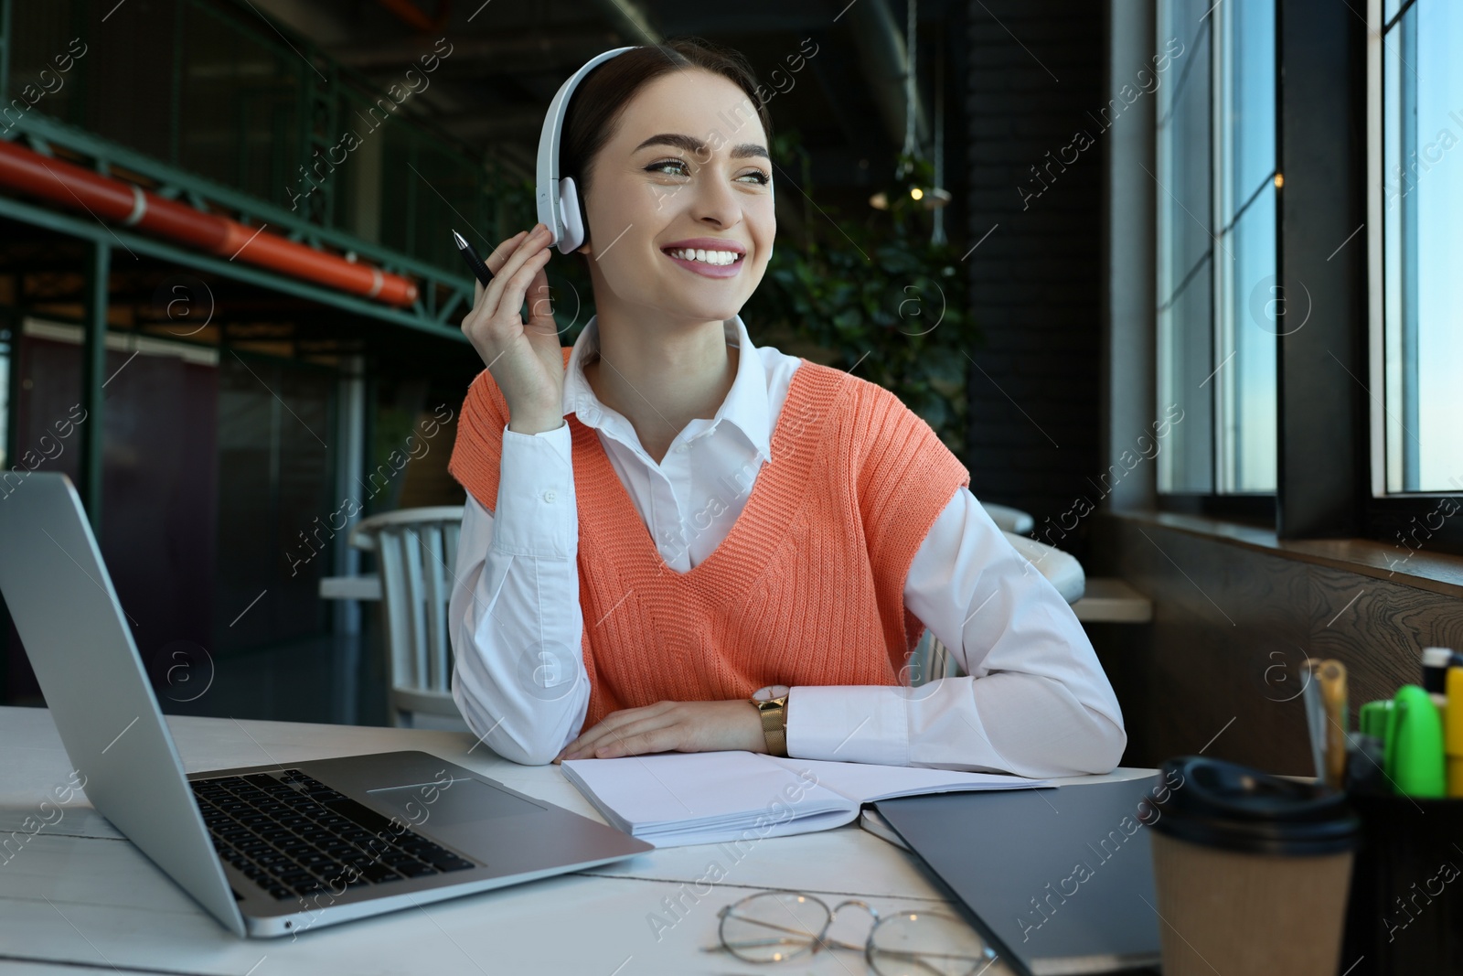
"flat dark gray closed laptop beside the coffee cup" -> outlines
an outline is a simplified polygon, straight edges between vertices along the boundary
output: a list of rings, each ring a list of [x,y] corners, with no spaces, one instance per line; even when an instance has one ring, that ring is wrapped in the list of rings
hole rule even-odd
[[[1160,784],[941,793],[876,808],[1011,969],[1112,973],[1162,961],[1147,827]]]

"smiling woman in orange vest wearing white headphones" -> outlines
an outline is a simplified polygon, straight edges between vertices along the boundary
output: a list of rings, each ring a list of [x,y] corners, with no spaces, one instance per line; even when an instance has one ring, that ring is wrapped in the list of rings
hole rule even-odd
[[[449,465],[468,490],[462,716],[525,764],[786,749],[1112,770],[1127,735],[1091,644],[969,471],[884,388],[752,345],[737,310],[777,233],[756,92],[695,38],[581,82],[562,171],[598,313],[572,348],[543,225],[487,260],[462,320],[487,369]],[[969,677],[909,686],[926,625]]]

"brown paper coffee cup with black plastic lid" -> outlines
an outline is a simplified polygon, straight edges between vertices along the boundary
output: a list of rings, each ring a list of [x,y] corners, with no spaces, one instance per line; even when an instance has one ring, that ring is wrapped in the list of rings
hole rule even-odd
[[[1210,759],[1163,764],[1153,827],[1163,976],[1336,976],[1361,821],[1346,795]]]

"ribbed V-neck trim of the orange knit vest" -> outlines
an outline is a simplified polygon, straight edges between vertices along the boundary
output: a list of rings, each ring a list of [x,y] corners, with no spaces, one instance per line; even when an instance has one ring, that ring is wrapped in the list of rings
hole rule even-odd
[[[613,515],[616,518],[629,519],[632,524],[639,527],[644,533],[641,538],[645,546],[636,547],[636,558],[644,556],[645,563],[639,566],[654,574],[669,574],[676,578],[676,584],[688,584],[692,579],[699,581],[702,577],[717,575],[721,572],[723,563],[734,559],[736,553],[746,547],[748,533],[752,531],[751,525],[762,518],[767,519],[771,528],[772,538],[783,538],[787,527],[791,524],[793,517],[797,514],[791,508],[787,511],[771,511],[764,515],[762,509],[770,505],[768,495],[772,492],[772,486],[778,483],[789,483],[799,495],[802,484],[806,484],[808,477],[812,474],[812,459],[816,457],[818,443],[822,440],[824,427],[828,423],[828,407],[838,398],[840,388],[843,386],[843,379],[831,373],[840,373],[847,378],[847,373],[840,370],[831,370],[825,373],[819,369],[809,369],[818,366],[809,361],[806,357],[799,357],[802,360],[797,369],[793,370],[793,378],[787,388],[787,398],[783,401],[781,413],[777,416],[777,424],[772,427],[771,436],[771,454],[772,458],[778,458],[774,464],[768,459],[758,468],[756,477],[752,481],[752,493],[746,499],[746,505],[737,515],[736,521],[732,522],[730,531],[717,544],[711,553],[692,566],[686,572],[672,569],[666,559],[660,555],[660,547],[655,546],[654,537],[651,537],[650,527],[645,525],[639,512],[635,511],[635,503],[631,500],[629,490],[620,481],[619,474],[616,474],[614,467],[610,464],[609,455],[604,452],[604,445],[600,442],[598,432],[595,432],[588,424],[582,423],[575,417],[575,440],[581,442],[587,448],[590,470],[587,474],[595,478],[604,478],[613,483],[610,493],[613,495]],[[822,410],[818,410],[813,420],[812,436],[806,436],[802,432],[793,430],[793,424],[799,423],[794,417],[794,410],[799,404],[808,402],[815,408],[822,402]],[[789,442],[789,438],[797,438]],[[582,439],[582,440],[581,440]],[[756,558],[758,553],[746,553],[748,558]],[[740,581],[727,581],[727,584],[740,582],[743,585],[751,585],[751,574],[748,578]]]

